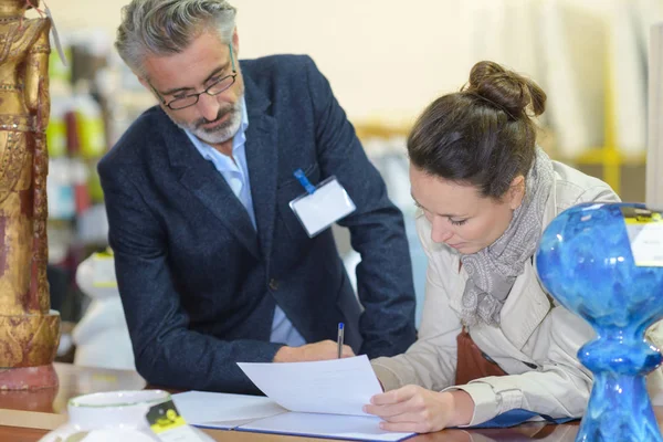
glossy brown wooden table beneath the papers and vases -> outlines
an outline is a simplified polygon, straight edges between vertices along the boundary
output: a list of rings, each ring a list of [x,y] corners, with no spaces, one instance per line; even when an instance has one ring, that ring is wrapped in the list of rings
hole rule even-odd
[[[55,364],[60,378],[57,391],[13,392],[0,391],[0,441],[35,442],[49,431],[66,421],[66,402],[70,398],[98,391],[140,390],[145,381],[135,371],[109,370]],[[663,427],[663,407],[655,408],[659,424]],[[236,442],[322,442],[323,439],[295,438],[239,431],[203,430],[215,441]],[[417,435],[412,442],[497,442],[546,441],[572,442],[578,433],[578,422],[561,425],[530,423],[499,430],[444,430]]]

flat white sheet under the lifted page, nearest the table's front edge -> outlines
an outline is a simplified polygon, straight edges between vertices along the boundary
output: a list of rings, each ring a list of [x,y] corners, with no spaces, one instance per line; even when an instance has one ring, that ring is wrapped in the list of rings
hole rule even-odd
[[[379,423],[380,419],[376,417],[290,412],[261,419],[236,430],[355,441],[401,441],[413,435],[380,430]]]

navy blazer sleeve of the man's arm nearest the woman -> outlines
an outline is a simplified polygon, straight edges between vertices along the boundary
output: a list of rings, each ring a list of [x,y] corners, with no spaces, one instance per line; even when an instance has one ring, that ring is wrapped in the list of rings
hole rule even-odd
[[[403,218],[387,197],[377,169],[368,160],[352,125],[327,80],[306,59],[308,91],[323,176],[336,176],[357,210],[338,224],[349,228],[352,249],[361,254],[357,292],[364,305],[360,351],[369,358],[398,355],[415,339],[412,264]]]

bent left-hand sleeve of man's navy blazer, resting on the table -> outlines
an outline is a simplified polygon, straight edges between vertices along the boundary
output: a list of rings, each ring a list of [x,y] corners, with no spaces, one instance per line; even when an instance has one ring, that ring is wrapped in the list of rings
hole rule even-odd
[[[281,347],[257,340],[225,341],[188,329],[167,264],[159,220],[122,168],[99,165],[108,242],[138,372],[152,385],[259,393],[235,361],[269,362]]]

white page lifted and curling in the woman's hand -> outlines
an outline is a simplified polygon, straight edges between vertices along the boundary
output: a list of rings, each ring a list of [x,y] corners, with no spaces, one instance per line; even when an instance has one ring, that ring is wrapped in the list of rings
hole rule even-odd
[[[361,408],[382,392],[366,355],[315,362],[238,365],[262,392],[291,411],[369,415]]]

